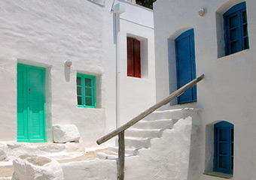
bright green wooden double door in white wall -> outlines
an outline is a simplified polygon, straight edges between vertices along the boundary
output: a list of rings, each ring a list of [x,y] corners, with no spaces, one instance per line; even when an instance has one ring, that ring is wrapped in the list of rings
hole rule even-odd
[[[45,142],[45,69],[17,65],[17,141]]]

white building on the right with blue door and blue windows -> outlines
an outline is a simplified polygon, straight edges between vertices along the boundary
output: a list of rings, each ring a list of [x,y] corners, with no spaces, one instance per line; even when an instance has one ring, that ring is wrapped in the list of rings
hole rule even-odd
[[[177,83],[183,83],[181,80],[187,81],[186,78],[190,78],[187,72],[191,77],[205,75],[197,90],[194,89],[196,99],[193,92],[192,95],[187,93],[187,97],[172,106],[163,107],[163,110],[201,109],[200,157],[193,179],[224,179],[221,176],[232,175],[236,180],[256,178],[256,154],[252,150],[256,145],[253,113],[256,105],[255,7],[253,0],[160,0],[154,3],[157,101],[174,92]],[[199,11],[203,13],[201,9],[205,10],[202,16],[199,15]],[[194,29],[194,34],[190,29]],[[190,49],[188,55],[186,48]],[[186,58],[191,65],[186,64]],[[181,70],[189,67],[192,72],[177,72],[180,65]],[[220,121],[230,124],[217,124]],[[234,133],[227,132],[227,128],[233,128]],[[217,130],[227,134],[215,136]],[[192,156],[197,157],[197,154]]]

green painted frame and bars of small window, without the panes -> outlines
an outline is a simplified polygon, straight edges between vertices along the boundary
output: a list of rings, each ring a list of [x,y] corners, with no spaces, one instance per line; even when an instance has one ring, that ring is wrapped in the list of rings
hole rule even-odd
[[[78,77],[81,78],[81,85],[78,85]],[[90,79],[91,86],[85,85],[85,79]],[[81,95],[78,95],[78,87],[81,87]],[[91,89],[91,95],[86,95],[85,89]],[[78,97],[81,97],[81,104],[78,104]],[[87,98],[91,98],[92,105],[87,105]],[[77,74],[77,104],[78,107],[96,108],[96,77],[88,74]]]

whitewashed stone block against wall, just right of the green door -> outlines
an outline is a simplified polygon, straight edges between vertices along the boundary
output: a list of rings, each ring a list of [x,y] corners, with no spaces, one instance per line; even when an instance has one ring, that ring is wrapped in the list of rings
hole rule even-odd
[[[79,139],[80,133],[74,124],[53,125],[54,142],[73,142]]]

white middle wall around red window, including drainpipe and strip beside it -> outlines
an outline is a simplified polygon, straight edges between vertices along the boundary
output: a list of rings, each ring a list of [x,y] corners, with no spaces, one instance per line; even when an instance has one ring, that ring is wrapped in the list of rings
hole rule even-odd
[[[107,10],[111,9],[112,2],[106,1]],[[105,74],[111,77],[106,78],[107,132],[113,130],[109,124],[120,126],[156,102],[153,12],[128,1],[115,1],[114,5],[117,4],[124,7],[124,12],[105,11],[102,37]],[[136,37],[142,42],[142,78],[126,76],[126,37]]]

